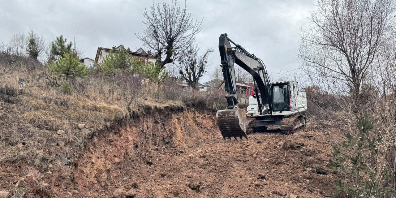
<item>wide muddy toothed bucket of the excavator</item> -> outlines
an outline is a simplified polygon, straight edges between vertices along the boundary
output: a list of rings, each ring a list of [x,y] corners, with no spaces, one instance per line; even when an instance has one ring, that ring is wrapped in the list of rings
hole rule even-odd
[[[218,110],[216,113],[217,125],[223,138],[235,139],[245,137],[246,134],[246,110],[245,109],[225,109]]]

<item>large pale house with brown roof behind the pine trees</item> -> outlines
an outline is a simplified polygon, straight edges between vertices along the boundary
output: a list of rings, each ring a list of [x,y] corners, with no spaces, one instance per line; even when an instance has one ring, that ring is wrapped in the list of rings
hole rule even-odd
[[[95,63],[101,63],[103,61],[103,59],[105,59],[105,57],[110,53],[111,50],[116,52],[121,48],[124,48],[124,46],[123,45],[120,45],[118,47],[113,46],[112,49],[98,47],[98,50],[96,52],[96,57],[95,57]],[[128,49],[124,48],[124,49],[131,56],[141,57],[141,59],[143,60],[143,63],[147,63],[147,61],[150,61],[152,63],[156,62],[154,55],[152,55],[150,52],[144,51],[142,48],[139,48],[137,51],[131,51],[129,48]]]

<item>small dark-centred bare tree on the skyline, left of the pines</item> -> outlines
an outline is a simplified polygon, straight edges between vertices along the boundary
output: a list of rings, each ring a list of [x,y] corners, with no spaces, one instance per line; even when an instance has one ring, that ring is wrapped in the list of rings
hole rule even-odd
[[[45,40],[44,36],[38,36],[33,29],[30,29],[30,32],[27,37],[27,54],[33,58],[37,59],[37,57],[44,51],[45,48]]]

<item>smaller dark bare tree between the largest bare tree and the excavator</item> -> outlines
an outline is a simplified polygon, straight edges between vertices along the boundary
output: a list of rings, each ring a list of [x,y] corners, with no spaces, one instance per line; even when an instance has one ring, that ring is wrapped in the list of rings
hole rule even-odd
[[[215,50],[213,48],[206,49],[202,55],[198,55],[198,51],[198,46],[190,47],[187,54],[177,60],[179,74],[193,89],[196,88],[199,79],[206,72],[206,67],[209,65],[208,56]]]

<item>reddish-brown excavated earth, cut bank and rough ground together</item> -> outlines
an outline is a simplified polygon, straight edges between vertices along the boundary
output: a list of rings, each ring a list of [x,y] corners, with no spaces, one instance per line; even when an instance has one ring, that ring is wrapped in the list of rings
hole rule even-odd
[[[26,198],[341,197],[321,129],[308,123],[289,135],[248,137],[223,140],[214,112],[146,112],[97,133],[74,166],[49,172],[1,163],[0,191],[22,180]]]

